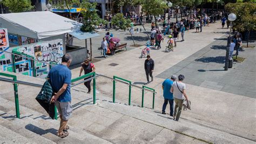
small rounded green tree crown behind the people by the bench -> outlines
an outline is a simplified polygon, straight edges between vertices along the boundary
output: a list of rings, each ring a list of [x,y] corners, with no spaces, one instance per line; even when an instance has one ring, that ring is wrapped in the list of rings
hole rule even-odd
[[[111,23],[119,27],[119,29],[125,30],[130,27],[131,20],[125,19],[123,13],[117,13],[117,15],[112,17]]]

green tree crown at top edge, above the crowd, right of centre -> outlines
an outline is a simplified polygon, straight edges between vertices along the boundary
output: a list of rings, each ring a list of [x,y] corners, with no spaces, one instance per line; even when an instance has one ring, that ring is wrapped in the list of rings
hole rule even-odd
[[[163,15],[164,10],[167,8],[168,6],[163,0],[148,0],[146,3],[142,4],[142,11],[153,16]]]

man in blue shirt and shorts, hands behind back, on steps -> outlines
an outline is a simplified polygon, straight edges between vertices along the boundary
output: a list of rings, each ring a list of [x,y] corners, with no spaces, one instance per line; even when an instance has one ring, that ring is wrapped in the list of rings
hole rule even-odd
[[[60,138],[65,138],[69,135],[69,126],[67,124],[72,114],[70,93],[71,71],[68,68],[71,60],[70,54],[64,54],[62,64],[52,67],[48,74],[54,92],[51,102],[55,102],[59,112],[60,126],[57,135]]]

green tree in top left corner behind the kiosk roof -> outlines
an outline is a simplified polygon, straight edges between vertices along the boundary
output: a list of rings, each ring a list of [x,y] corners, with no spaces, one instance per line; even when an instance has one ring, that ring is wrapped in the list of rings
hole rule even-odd
[[[30,0],[3,0],[0,3],[8,7],[10,12],[25,12],[35,8]]]

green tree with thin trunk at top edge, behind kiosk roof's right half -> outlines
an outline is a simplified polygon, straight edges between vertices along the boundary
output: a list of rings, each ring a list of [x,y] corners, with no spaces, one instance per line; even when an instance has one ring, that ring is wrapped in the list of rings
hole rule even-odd
[[[72,18],[71,8],[80,5],[79,0],[49,0],[49,3],[53,3],[52,7],[55,9],[68,9],[70,18]]]

